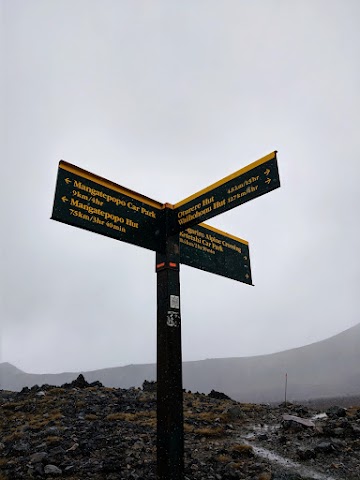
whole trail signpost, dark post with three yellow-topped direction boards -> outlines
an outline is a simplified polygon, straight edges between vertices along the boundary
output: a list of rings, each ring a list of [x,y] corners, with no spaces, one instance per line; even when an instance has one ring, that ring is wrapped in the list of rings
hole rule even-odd
[[[159,480],[184,474],[180,263],[252,285],[248,243],[200,222],[278,187],[276,152],[176,205],[59,163],[53,220],[156,252]]]

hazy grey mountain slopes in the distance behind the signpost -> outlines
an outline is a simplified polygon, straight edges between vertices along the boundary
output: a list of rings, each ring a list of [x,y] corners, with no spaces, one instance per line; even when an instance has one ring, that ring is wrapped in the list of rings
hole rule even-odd
[[[79,373],[28,374],[2,363],[0,388],[61,385],[74,380]],[[155,380],[156,365],[127,365],[81,373],[88,382],[100,380],[106,386],[129,388],[141,386],[145,379]],[[271,355],[183,364],[187,390],[208,393],[215,389],[246,402],[283,400],[285,373],[289,399],[360,393],[360,324],[321,342]]]

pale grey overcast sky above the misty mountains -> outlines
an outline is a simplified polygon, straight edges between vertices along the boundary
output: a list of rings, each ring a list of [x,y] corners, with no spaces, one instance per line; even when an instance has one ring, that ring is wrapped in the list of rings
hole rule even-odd
[[[358,0],[0,0],[1,361],[156,361],[155,253],[50,220],[64,159],[176,203],[278,150],[281,188],[207,223],[254,287],[181,267],[183,359],[360,321]]]

